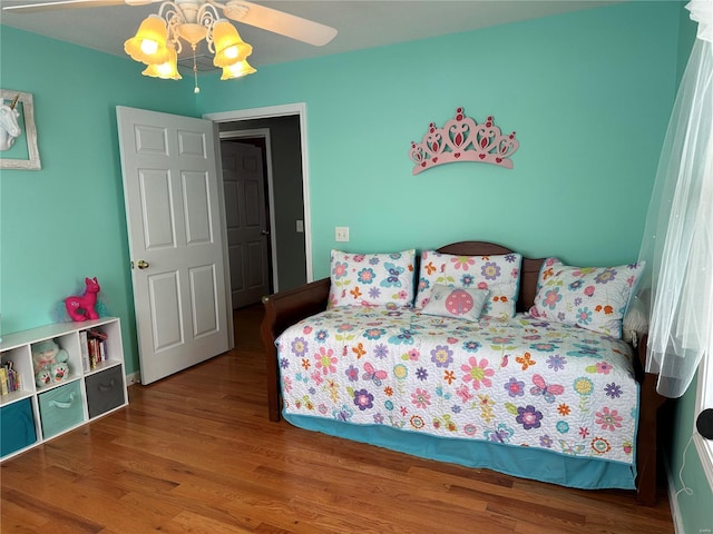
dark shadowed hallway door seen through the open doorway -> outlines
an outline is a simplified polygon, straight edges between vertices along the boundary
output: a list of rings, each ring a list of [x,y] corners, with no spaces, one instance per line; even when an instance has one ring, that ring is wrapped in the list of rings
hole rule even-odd
[[[231,293],[241,308],[270,294],[263,158],[260,148],[231,140],[221,142],[221,156]]]

